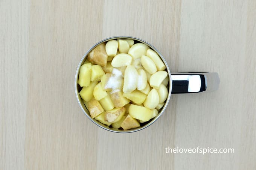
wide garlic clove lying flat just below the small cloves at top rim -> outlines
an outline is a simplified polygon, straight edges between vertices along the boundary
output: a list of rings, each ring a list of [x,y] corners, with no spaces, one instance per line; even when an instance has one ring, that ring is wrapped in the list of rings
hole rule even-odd
[[[120,53],[112,59],[111,65],[113,67],[124,67],[130,65],[132,60],[133,58],[130,55]]]

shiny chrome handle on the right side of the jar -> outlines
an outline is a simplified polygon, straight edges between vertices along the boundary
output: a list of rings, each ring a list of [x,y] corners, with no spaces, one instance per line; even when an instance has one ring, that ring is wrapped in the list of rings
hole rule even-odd
[[[175,73],[171,74],[172,94],[215,91],[219,87],[218,73]]]

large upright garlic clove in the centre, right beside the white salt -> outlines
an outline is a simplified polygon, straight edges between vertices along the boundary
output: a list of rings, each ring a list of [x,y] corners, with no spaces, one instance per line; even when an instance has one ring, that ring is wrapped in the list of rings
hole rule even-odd
[[[138,84],[138,73],[133,65],[128,65],[125,69],[123,93],[131,93]]]

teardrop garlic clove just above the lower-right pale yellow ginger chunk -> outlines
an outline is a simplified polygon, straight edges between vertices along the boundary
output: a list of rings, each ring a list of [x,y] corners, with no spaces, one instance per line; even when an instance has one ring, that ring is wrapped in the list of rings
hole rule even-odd
[[[143,105],[148,109],[154,109],[159,104],[159,96],[154,88],[148,93]]]

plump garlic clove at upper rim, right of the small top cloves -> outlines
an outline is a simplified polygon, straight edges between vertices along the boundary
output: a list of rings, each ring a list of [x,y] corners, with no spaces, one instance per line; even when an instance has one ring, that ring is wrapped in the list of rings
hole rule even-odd
[[[146,55],[147,50],[149,47],[143,43],[136,43],[131,46],[128,54],[131,55],[134,59],[140,58],[142,55]]]

